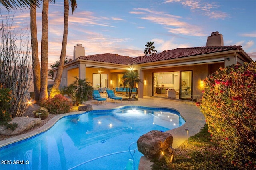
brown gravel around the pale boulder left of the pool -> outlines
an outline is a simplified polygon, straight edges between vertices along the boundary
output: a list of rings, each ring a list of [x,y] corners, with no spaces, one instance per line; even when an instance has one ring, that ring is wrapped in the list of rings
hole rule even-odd
[[[33,117],[33,118],[34,118],[33,111],[34,111],[34,110],[37,110],[39,107],[40,107],[40,106],[38,106],[37,104],[32,104],[32,105],[28,106],[28,108],[26,108],[25,113],[24,113],[23,116],[25,116],[25,117],[28,116],[28,117]],[[48,122],[48,121],[49,121],[51,118],[53,118],[54,116],[56,116],[56,114],[49,114],[48,118],[42,120],[42,123],[41,123],[40,125],[34,126],[34,127],[32,127],[30,130],[27,130],[27,131],[25,131],[25,132],[23,132],[23,133],[21,133],[21,134],[25,134],[25,133],[31,132],[31,131],[33,131],[33,130],[35,130],[35,129],[37,129],[37,128],[40,128],[41,126],[43,126],[44,124],[46,124],[46,122]],[[19,135],[20,135],[20,134],[19,134]],[[8,139],[8,138],[12,138],[12,137],[14,137],[14,136],[16,136],[16,135],[10,135],[10,136],[8,136],[8,135],[0,135],[0,140],[5,140],[5,139]],[[17,135],[17,136],[18,136],[18,135]]]

